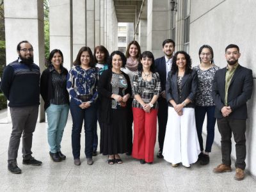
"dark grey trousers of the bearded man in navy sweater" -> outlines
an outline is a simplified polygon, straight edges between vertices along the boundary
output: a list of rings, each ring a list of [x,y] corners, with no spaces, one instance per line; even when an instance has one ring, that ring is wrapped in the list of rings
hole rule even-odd
[[[38,105],[10,108],[10,112],[13,127],[8,148],[8,160],[17,159],[21,136],[23,159],[29,159],[32,154],[32,138],[38,117]]]

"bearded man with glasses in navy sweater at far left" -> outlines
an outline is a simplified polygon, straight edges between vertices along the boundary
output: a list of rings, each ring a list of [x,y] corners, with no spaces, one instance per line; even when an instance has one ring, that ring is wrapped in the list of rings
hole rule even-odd
[[[23,164],[40,165],[31,156],[32,137],[38,116],[40,69],[33,63],[33,47],[28,41],[17,45],[19,58],[4,68],[1,90],[9,100],[12,134],[8,148],[8,170],[21,173],[17,154],[22,136]]]

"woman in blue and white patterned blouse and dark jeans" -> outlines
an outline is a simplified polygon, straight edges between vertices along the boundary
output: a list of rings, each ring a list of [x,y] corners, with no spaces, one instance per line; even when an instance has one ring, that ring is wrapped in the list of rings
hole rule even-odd
[[[87,164],[92,165],[93,129],[97,121],[95,101],[98,97],[99,74],[90,47],[82,47],[67,77],[67,90],[71,97],[72,153],[74,164],[80,165],[80,140],[84,122],[85,155]]]

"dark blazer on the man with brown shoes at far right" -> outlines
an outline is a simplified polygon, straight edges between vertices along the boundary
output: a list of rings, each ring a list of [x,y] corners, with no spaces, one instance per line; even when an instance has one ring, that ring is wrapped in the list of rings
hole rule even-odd
[[[216,105],[215,117],[222,118],[221,109],[225,106],[225,77],[227,67],[218,70],[212,84],[212,98]],[[234,119],[247,118],[246,102],[252,96],[252,70],[238,65],[228,88],[228,106],[232,109],[229,117]]]

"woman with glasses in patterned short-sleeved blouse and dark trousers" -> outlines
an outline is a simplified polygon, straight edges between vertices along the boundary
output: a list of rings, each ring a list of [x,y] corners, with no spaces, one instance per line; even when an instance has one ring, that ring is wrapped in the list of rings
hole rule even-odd
[[[199,49],[200,65],[193,68],[198,76],[198,89],[196,92],[196,131],[200,144],[201,153],[198,156],[200,164],[205,165],[210,161],[209,152],[211,152],[212,143],[214,140],[214,127],[216,118],[214,118],[215,105],[212,100],[212,81],[214,74],[220,67],[214,65],[212,47],[202,45]],[[207,138],[204,151],[202,127],[204,124],[205,113],[207,114]]]

